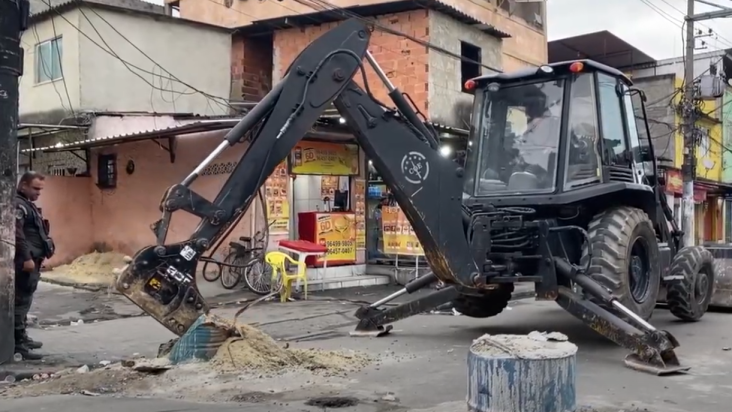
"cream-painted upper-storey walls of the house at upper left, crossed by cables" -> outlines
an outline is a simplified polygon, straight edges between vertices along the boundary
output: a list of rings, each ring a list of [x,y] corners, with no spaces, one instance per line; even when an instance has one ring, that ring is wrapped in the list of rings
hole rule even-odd
[[[28,116],[33,121],[42,121],[44,114],[50,112],[56,112],[56,116],[50,117],[60,118],[58,111],[69,115],[70,106],[76,113],[138,111],[219,115],[228,112],[225,105],[168,80],[160,66],[197,90],[228,97],[231,76],[229,31],[167,16],[86,6],[63,16],[68,22],[55,16],[53,24],[49,18],[23,33],[26,56],[25,75],[20,84],[21,118]],[[54,35],[54,25],[57,35]],[[35,45],[58,35],[63,37],[62,67],[70,99],[61,80],[34,84]],[[133,44],[160,66],[136,50]],[[144,71],[125,67],[120,59],[100,46]]]

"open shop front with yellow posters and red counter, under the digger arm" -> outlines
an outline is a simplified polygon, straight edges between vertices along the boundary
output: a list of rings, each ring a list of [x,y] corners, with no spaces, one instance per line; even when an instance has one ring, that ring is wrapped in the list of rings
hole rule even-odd
[[[325,256],[307,259],[312,278],[365,272],[364,163],[352,140],[303,140],[265,184],[270,247],[276,248],[272,240],[297,239],[327,248]]]

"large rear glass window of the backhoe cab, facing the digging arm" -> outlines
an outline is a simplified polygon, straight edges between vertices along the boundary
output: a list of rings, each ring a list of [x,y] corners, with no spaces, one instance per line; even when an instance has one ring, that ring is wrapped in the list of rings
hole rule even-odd
[[[563,92],[564,80],[484,91],[476,195],[554,190]]]

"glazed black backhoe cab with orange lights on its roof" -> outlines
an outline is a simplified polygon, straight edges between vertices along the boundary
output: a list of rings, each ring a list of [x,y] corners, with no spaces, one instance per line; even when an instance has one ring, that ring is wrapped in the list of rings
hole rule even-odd
[[[652,197],[630,85],[589,60],[469,80],[475,102],[464,197],[534,206],[628,188],[600,188],[608,183],[638,185]]]

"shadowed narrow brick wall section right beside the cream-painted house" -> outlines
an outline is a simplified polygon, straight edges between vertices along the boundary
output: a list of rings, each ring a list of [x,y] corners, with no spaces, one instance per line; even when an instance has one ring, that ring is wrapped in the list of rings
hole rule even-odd
[[[259,101],[272,88],[272,37],[245,38],[231,42],[231,98]]]

